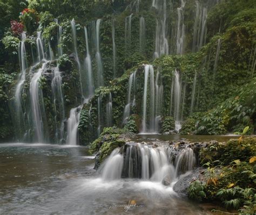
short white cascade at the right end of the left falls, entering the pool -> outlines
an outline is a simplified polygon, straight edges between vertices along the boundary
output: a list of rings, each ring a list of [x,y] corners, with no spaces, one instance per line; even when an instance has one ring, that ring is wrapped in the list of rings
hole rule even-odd
[[[83,105],[80,105],[77,108],[72,108],[70,110],[68,119],[68,136],[66,138],[66,144],[68,145],[78,145],[77,131],[82,107]]]

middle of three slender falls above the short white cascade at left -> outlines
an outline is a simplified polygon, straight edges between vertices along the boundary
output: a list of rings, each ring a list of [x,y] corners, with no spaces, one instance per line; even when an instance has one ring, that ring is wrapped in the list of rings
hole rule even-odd
[[[85,58],[85,67],[87,72],[87,97],[91,98],[94,94],[94,82],[93,82],[93,74],[92,74],[92,62],[91,62],[91,56],[89,51],[89,42],[88,42],[88,33],[87,28],[84,27],[84,33],[85,33],[85,42],[86,42],[86,58]]]

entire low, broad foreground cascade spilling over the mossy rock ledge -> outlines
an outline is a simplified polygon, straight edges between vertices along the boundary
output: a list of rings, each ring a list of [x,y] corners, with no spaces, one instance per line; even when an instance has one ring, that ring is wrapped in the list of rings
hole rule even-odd
[[[123,152],[122,152],[123,151]],[[173,165],[172,158],[175,158]],[[159,146],[147,143],[126,143],[124,150],[117,148],[100,166],[99,171],[105,181],[123,178],[142,178],[144,181],[171,182],[190,171],[196,165],[196,158],[191,148],[174,150],[173,145]]]

